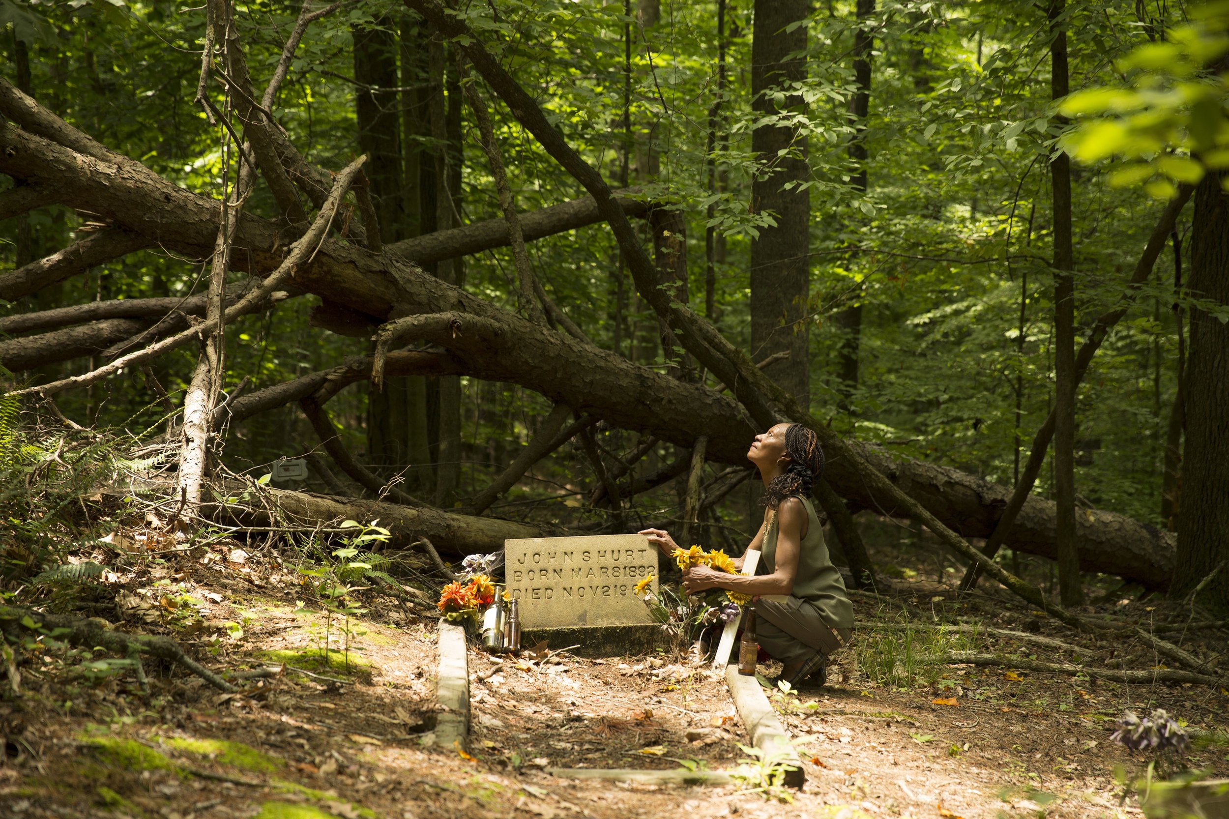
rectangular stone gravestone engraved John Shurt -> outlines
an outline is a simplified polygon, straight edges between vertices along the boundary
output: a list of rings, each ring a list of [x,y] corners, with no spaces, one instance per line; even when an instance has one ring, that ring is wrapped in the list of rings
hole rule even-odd
[[[653,646],[660,627],[635,596],[653,577],[658,550],[643,535],[528,537],[504,542],[509,593],[519,600],[522,644],[637,651]]]

